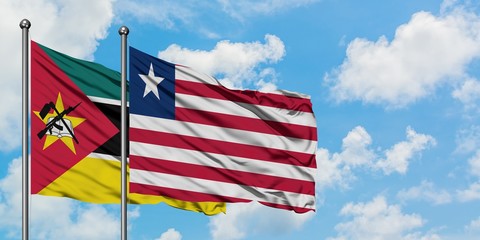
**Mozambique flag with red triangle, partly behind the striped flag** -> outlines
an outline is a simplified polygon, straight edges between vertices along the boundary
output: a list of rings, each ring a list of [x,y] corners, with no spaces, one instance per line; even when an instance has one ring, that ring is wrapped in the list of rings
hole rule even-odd
[[[120,203],[120,73],[31,42],[31,192]],[[213,215],[225,203],[128,194]]]

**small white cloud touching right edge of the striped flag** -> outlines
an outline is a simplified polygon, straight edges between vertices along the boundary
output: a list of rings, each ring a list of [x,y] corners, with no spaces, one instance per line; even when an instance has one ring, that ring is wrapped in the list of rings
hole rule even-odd
[[[430,135],[416,133],[410,126],[406,129],[406,141],[401,141],[386,151],[382,157],[379,151],[371,146],[372,138],[361,126],[352,129],[342,141],[342,151],[331,154],[327,149],[317,151],[317,167],[320,177],[317,187],[340,186],[347,188],[355,180],[354,170],[366,168],[382,170],[389,175],[393,172],[405,174],[410,161],[422,151],[435,145]]]

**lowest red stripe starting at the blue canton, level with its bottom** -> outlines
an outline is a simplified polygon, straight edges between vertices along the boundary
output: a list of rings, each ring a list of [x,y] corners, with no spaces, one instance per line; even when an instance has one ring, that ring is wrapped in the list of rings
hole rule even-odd
[[[180,107],[175,108],[175,116],[179,121],[317,141],[315,127]]]

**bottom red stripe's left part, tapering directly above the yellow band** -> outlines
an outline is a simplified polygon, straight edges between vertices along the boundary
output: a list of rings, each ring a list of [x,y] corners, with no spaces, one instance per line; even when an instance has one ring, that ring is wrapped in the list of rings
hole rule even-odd
[[[251,202],[252,200],[219,196],[208,193],[193,192],[175,188],[159,187],[141,183],[130,182],[130,192],[146,195],[168,196],[189,202]]]

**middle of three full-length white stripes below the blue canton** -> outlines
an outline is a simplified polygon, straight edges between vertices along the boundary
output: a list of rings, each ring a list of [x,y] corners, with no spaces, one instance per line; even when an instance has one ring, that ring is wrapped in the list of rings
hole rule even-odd
[[[130,142],[130,155],[314,182],[315,169],[222,154]]]

